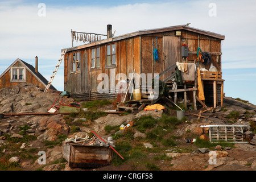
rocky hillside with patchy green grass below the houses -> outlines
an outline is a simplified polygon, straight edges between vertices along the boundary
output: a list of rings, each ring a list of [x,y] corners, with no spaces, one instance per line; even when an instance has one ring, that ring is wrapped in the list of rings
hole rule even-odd
[[[9,114],[0,121],[0,170],[91,170],[70,168],[62,158],[63,140],[84,137],[91,130],[103,138],[113,136],[116,150],[125,158],[114,155],[112,165],[96,170],[256,170],[256,106],[252,104],[225,97],[223,107],[187,110],[181,121],[175,119],[174,107],[157,112],[100,112],[115,109],[114,102],[90,107],[94,112],[42,114],[47,113],[56,98],[56,103],[62,99],[65,104],[77,102],[60,96],[60,92],[45,93],[31,84],[0,90],[0,114]],[[119,126],[129,122],[134,126],[119,130]],[[200,125],[222,124],[247,125],[245,140],[249,143],[200,145],[199,137],[208,136]],[[197,143],[188,142],[193,138]],[[42,151],[46,164],[38,161]],[[216,164],[209,164],[209,151],[217,152]]]

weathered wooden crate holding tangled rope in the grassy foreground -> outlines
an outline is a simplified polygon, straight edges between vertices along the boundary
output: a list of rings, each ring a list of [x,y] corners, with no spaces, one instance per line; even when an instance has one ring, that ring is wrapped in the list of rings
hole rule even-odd
[[[102,167],[112,162],[113,150],[104,146],[83,146],[63,142],[63,158],[68,161],[69,167]]]

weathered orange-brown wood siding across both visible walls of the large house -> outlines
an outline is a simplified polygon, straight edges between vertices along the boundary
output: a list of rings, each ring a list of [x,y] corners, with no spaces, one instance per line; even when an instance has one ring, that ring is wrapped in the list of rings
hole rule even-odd
[[[181,36],[176,36],[176,31],[181,31]],[[158,38],[158,61],[154,61],[153,40]],[[110,40],[110,39],[109,39]],[[86,46],[85,48],[71,49],[65,56],[64,66],[64,90],[71,92],[74,97],[93,100],[102,98],[115,98],[117,93],[105,93],[99,94],[97,92],[97,85],[102,80],[97,80],[101,73],[106,73],[109,77],[110,84],[117,84],[117,80],[110,80],[110,74],[114,73],[114,77],[118,73],[125,73],[129,78],[129,73],[141,74],[145,73],[161,73],[166,68],[175,64],[176,61],[183,61],[181,57],[181,46],[187,44],[188,62],[197,63],[197,48],[200,47],[202,52],[209,52],[212,56],[212,61],[204,65],[200,63],[200,68],[210,68],[210,64],[213,64],[217,71],[221,71],[221,39],[213,38],[200,34],[198,32],[192,32],[188,30],[175,30],[168,32],[158,32],[139,36],[127,36],[127,38],[119,38],[116,41],[105,40],[102,44],[92,44],[92,46]],[[106,67],[106,46],[108,44],[115,43],[116,46],[116,65],[113,67]],[[156,44],[155,44],[156,46]],[[92,48],[100,47],[100,68],[91,68],[91,55]],[[81,71],[80,73],[72,73],[72,53],[80,51],[81,56]],[[170,72],[160,77],[160,80],[170,76]]]

